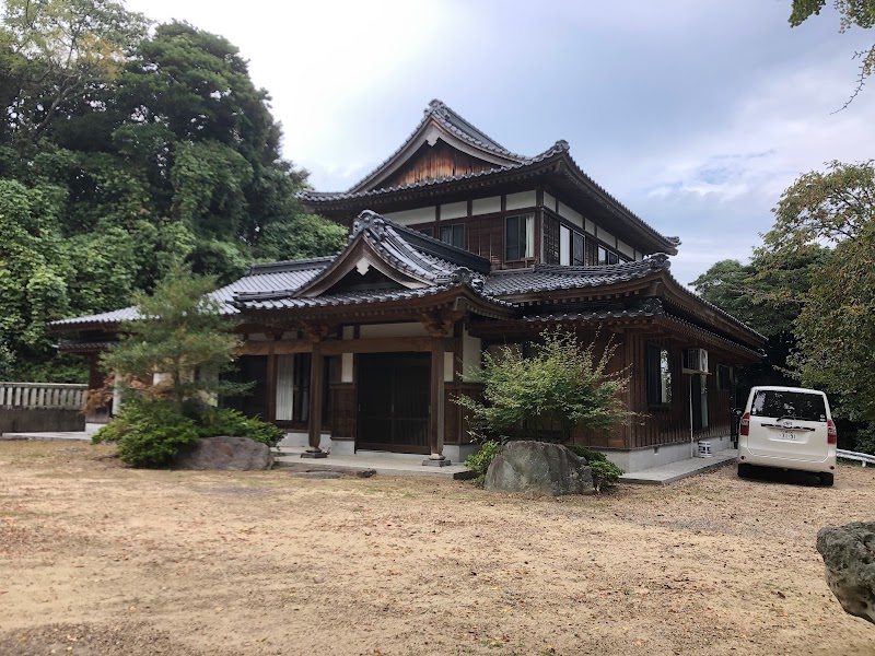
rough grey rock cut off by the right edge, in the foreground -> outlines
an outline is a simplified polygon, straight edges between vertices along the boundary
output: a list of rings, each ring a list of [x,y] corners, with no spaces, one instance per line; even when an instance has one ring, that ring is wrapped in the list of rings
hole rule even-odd
[[[821,528],[817,550],[844,612],[875,624],[875,522]]]

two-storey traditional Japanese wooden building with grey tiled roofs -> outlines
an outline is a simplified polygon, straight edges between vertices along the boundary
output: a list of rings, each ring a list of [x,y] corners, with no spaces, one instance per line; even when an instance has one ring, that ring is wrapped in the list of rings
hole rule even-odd
[[[680,245],[593,181],[558,141],[514,154],[439,101],[348,191],[301,195],[350,227],[336,256],[254,265],[218,290],[244,337],[229,405],[289,430],[310,455],[418,453],[441,465],[476,450],[453,398],[477,395],[482,353],[546,328],[617,344],[637,412],[575,442],[627,470],[728,444],[734,367],[765,338],[669,273]],[[56,321],[68,352],[96,353],[135,308]]]

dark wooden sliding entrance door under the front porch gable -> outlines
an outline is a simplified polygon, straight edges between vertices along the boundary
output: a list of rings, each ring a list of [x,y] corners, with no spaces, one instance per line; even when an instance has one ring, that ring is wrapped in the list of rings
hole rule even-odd
[[[359,355],[357,448],[429,453],[429,353]]]

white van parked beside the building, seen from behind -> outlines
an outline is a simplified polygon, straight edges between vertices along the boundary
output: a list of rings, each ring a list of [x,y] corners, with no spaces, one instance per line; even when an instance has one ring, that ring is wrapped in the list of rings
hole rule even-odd
[[[738,476],[754,467],[798,469],[831,485],[836,424],[827,395],[803,387],[755,387],[738,429]]]

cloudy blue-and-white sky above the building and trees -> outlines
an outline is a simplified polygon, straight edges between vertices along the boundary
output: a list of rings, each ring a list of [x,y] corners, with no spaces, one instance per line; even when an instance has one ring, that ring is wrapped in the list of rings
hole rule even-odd
[[[800,27],[791,0],[128,0],[221,34],[284,127],[283,153],[346,190],[440,98],[511,151],[559,139],[664,235],[689,283],[747,260],[802,173],[875,156],[875,85],[831,2]]]

